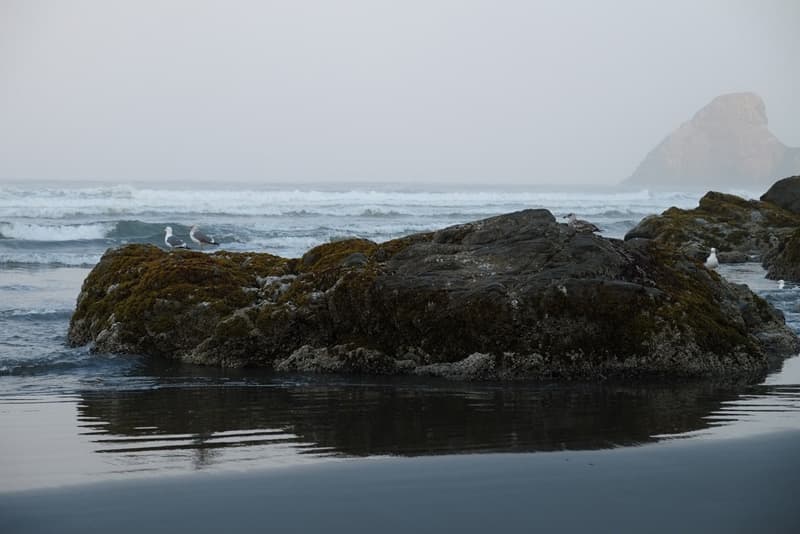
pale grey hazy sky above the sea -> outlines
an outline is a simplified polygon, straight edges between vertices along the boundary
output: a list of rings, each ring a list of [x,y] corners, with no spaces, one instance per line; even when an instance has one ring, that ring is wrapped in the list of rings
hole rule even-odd
[[[795,0],[0,0],[0,181],[615,184],[717,95],[800,146]]]

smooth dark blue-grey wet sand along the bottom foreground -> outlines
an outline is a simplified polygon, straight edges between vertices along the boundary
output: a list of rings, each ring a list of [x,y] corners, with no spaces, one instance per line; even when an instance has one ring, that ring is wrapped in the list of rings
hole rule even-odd
[[[800,532],[800,432],[0,494],[2,531]],[[501,530],[498,530],[501,529]]]

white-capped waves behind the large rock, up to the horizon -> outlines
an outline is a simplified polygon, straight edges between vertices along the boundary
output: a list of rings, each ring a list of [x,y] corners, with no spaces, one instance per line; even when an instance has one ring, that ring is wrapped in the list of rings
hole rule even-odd
[[[526,208],[546,208],[557,217],[574,212],[598,224],[605,235],[621,237],[645,215],[669,206],[694,207],[697,199],[696,194],[646,190],[557,193],[0,187],[0,234],[10,238],[0,239],[0,263],[91,266],[107,246],[129,242],[162,246],[167,225],[188,241],[188,226],[195,223],[213,234],[222,248],[294,257],[342,236],[380,242]],[[85,242],[100,239],[109,241]]]

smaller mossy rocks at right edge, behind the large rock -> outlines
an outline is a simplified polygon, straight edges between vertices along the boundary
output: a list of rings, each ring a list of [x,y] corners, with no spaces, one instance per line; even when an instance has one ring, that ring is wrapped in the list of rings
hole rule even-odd
[[[712,191],[697,208],[646,217],[625,239],[653,239],[698,261],[714,247],[722,263],[758,261],[768,278],[800,281],[800,211],[788,209],[798,198],[795,178],[780,180],[760,201]]]

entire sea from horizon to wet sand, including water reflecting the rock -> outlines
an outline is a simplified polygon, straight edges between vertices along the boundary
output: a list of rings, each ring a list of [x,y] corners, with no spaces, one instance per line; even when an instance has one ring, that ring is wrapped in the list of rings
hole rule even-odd
[[[737,192],[738,194],[745,194]],[[467,384],[276,375],[66,345],[80,286],[109,248],[187,242],[286,257],[344,237],[385,241],[526,208],[574,212],[621,238],[697,193],[573,188],[0,186],[2,495],[368,458],[445,458],[716,443],[800,430],[800,358],[758,383]],[[726,265],[800,331],[800,288]],[[796,436],[797,434],[791,434]],[[800,461],[787,459],[796,469]]]

